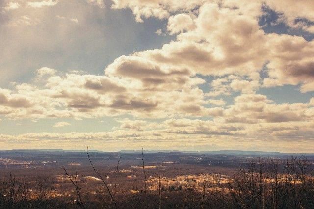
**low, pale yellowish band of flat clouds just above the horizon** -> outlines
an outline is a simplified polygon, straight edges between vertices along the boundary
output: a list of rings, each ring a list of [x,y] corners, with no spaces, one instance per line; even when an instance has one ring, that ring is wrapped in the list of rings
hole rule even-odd
[[[88,144],[107,151],[120,150],[121,143],[130,149],[135,149],[140,145],[146,149],[154,147],[156,149],[156,144],[162,149],[177,147],[180,150],[193,150],[193,148],[216,150],[226,147],[227,149],[241,147],[249,150],[274,149],[285,152],[310,152],[314,148],[311,146],[314,127],[309,122],[244,125],[174,118],[158,124],[130,119],[120,122],[122,123],[121,129],[109,132],[45,132],[16,136],[0,134],[0,144],[5,149],[9,149],[13,145],[16,146],[16,149],[20,147],[33,147],[34,149],[40,143],[45,143],[47,147],[53,148],[59,147],[62,140],[65,148],[70,148],[75,143],[78,149],[84,149]]]

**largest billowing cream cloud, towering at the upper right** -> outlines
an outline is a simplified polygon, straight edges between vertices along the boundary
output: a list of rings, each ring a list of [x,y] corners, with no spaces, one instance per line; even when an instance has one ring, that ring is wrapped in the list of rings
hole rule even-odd
[[[41,2],[56,3],[57,1]],[[97,2],[103,3],[103,1]],[[60,1],[61,3],[62,5],[64,4],[63,1]],[[269,4],[272,5],[273,2],[269,1]],[[160,49],[134,52],[130,56],[118,57],[107,67],[106,74],[111,76],[124,74],[125,77],[128,76],[131,79],[135,76],[131,75],[131,73],[137,72],[137,76],[139,76],[141,72],[144,72],[143,76],[146,73],[146,78],[142,78],[139,84],[142,84],[142,87],[147,89],[156,88],[155,84],[163,87],[163,83],[170,85],[170,83],[174,82],[185,82],[187,78],[180,76],[179,72],[185,73],[186,76],[197,73],[219,77],[240,74],[247,76],[249,79],[242,78],[238,82],[234,82],[232,86],[228,84],[228,88],[244,93],[254,93],[259,87],[259,71],[265,63],[269,63],[267,65],[269,78],[264,80],[265,87],[301,83],[300,90],[302,92],[312,91],[314,84],[310,78],[305,79],[306,72],[304,70],[311,69],[312,66],[310,59],[313,56],[311,51],[313,49],[312,42],[290,35],[265,34],[258,22],[258,17],[262,14],[262,5],[262,1],[243,3],[224,0],[221,3],[217,3],[216,1],[202,0],[184,2],[179,0],[114,0],[112,8],[130,8],[137,19],[142,20],[151,16],[161,19],[167,18],[167,30],[171,34],[176,34],[177,39],[164,44]],[[59,19],[68,19],[71,22],[80,20],[79,17],[73,18],[74,15],[68,17],[68,15],[62,16],[57,14],[55,16],[59,17]],[[41,18],[38,17],[38,20],[36,20],[29,16],[24,17],[20,22],[22,21],[29,25],[39,24],[38,21],[40,22]],[[81,19],[84,20],[86,18],[82,17]],[[62,25],[56,27],[69,28]],[[63,29],[57,31],[63,31]],[[60,35],[64,34],[68,34],[68,32],[53,36],[60,37]],[[41,34],[41,37],[46,37],[47,35],[49,34]],[[53,40],[53,38],[51,39]],[[295,51],[292,51],[297,50],[293,49],[292,45],[292,48],[289,49],[288,43],[290,42],[293,43],[293,46],[299,45],[299,47],[302,47],[304,45],[304,47],[300,48],[300,52],[296,56],[299,58],[290,59],[287,62],[289,54],[294,54]],[[29,42],[25,40],[23,43]],[[63,46],[68,43],[60,44]],[[49,49],[50,47],[46,48]],[[283,48],[283,51],[278,50],[281,48]],[[151,70],[148,71],[149,69]],[[286,71],[286,69],[289,70]],[[157,71],[159,71],[159,74],[163,73],[163,78],[150,78],[157,76],[153,74],[157,73]],[[177,74],[177,77],[171,75],[169,78],[172,80],[165,80],[171,73]],[[246,82],[249,82],[248,85],[245,85]],[[246,88],[244,89],[243,87]],[[223,93],[223,90],[220,93],[219,91],[212,92],[211,95],[219,95],[221,93]],[[224,93],[228,94],[228,91]]]

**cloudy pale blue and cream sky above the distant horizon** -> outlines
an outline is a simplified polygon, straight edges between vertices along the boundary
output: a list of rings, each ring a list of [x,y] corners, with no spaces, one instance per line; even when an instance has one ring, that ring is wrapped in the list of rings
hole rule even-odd
[[[312,0],[0,0],[0,149],[313,153]]]

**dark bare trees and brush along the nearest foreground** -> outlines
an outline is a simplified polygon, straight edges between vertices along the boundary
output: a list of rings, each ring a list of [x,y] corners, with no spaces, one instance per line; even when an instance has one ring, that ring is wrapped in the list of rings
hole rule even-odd
[[[93,165],[92,169],[103,180]],[[145,174],[144,160],[143,172]],[[66,170],[65,173],[68,175]],[[221,182],[213,178],[198,182],[198,188],[164,187],[159,178],[158,191],[150,191],[146,188],[145,174],[139,192],[116,192],[117,183],[110,187],[104,180],[106,192],[81,193],[82,185],[75,176],[68,175],[68,178],[71,178],[73,191],[52,196],[45,179],[37,178],[35,184],[29,184],[27,178],[17,179],[11,174],[0,182],[0,208],[314,209],[313,165],[305,157],[280,161],[273,157],[249,159],[235,173],[233,181]]]

